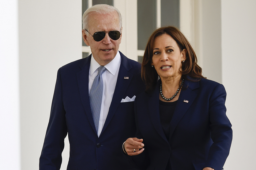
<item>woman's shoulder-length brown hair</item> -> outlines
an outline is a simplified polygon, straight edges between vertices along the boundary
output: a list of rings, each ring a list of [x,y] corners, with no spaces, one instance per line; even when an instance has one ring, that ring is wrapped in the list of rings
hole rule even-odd
[[[196,54],[191,47],[187,38],[175,27],[162,27],[158,28],[153,32],[147,42],[146,50],[143,55],[142,61],[142,79],[146,84],[146,92],[150,92],[154,89],[157,84],[158,74],[157,71],[151,67],[152,57],[153,57],[153,46],[155,38],[167,34],[170,35],[178,44],[180,51],[186,49],[186,61],[182,63],[181,74],[183,78],[186,78],[186,75],[197,78],[195,81],[199,81],[201,78],[205,78],[202,75],[202,68],[197,65]]]

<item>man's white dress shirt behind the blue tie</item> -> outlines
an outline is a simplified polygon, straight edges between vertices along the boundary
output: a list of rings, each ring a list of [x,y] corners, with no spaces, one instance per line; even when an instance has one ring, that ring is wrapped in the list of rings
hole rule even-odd
[[[117,52],[115,58],[104,67],[107,69],[102,74],[103,80],[103,95],[102,95],[102,104],[101,104],[101,113],[99,116],[99,129],[98,129],[98,137],[101,134],[104,123],[108,116],[109,107],[112,102],[114,90],[116,88],[117,76],[119,72],[121,64],[121,56],[119,51]],[[98,67],[100,67],[99,63],[91,57],[90,70],[89,70],[89,95],[91,91],[91,86],[93,85],[94,78],[98,75]],[[120,101],[121,102],[121,101]]]

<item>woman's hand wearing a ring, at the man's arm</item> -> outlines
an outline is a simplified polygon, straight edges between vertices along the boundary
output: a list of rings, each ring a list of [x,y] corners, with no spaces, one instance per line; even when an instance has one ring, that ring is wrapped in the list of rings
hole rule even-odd
[[[143,139],[128,138],[124,143],[124,149],[128,155],[139,155],[144,151]]]

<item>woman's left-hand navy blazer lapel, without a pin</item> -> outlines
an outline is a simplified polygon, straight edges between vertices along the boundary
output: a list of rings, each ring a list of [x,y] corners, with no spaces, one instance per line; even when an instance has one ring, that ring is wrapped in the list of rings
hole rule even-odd
[[[165,133],[163,131],[161,120],[160,120],[160,113],[159,113],[159,86],[161,81],[159,80],[157,83],[157,86],[155,90],[152,92],[149,100],[148,100],[148,108],[149,108],[149,114],[151,118],[151,122],[153,126],[155,127],[155,130],[161,135],[161,137],[166,141],[167,138],[165,136]]]

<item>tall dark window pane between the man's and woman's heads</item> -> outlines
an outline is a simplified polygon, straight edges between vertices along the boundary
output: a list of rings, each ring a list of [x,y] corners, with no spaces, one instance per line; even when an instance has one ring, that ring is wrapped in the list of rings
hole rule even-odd
[[[138,0],[138,50],[145,50],[148,38],[157,28],[156,0]]]

